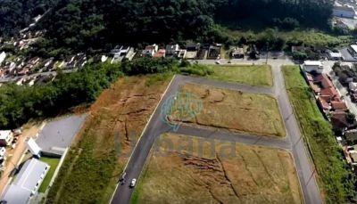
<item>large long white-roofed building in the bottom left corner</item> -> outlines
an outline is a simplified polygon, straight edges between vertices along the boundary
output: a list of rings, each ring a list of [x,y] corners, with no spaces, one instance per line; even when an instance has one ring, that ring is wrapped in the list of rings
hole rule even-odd
[[[42,184],[49,168],[45,162],[38,159],[26,161],[14,182],[6,186],[1,202],[10,204],[29,203],[31,196],[37,194],[37,190]]]

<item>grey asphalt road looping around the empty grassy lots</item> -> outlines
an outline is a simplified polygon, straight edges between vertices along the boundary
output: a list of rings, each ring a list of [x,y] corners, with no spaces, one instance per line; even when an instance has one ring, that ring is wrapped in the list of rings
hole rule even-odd
[[[278,139],[266,136],[236,134],[227,131],[215,131],[210,129],[196,128],[192,126],[181,126],[178,132],[176,133],[183,135],[200,136],[204,138],[227,140],[237,143],[248,143],[262,146],[278,147],[291,151],[295,159],[297,175],[299,177],[299,181],[302,187],[303,199],[305,200],[305,203],[322,203],[318,185],[311,169],[308,156],[309,154],[305,149],[303,138],[300,133],[300,128],[296,122],[293,109],[286,94],[284,78],[280,70],[281,65],[282,64],[276,64],[272,66],[274,86],[271,88],[245,86],[235,83],[212,81],[206,78],[195,78],[186,76],[176,76],[175,78],[173,78],[166,93],[162,96],[162,101],[158,104],[157,109],[154,111],[152,119],[148,122],[143,135],[138,141],[136,148],[132,152],[127,167],[125,168],[125,178],[127,180],[127,184],[117,185],[117,188],[112,196],[111,203],[129,203],[131,194],[133,192],[133,189],[129,188],[129,183],[132,178],[139,177],[145,165],[147,155],[149,154],[154,144],[155,138],[165,132],[171,132],[172,130],[170,126],[163,123],[160,119],[162,103],[165,102],[165,100],[170,97],[170,95],[176,94],[176,92],[179,90],[179,86],[184,83],[218,86],[228,89],[241,90],[243,92],[272,94],[276,96],[278,98],[279,108],[286,125],[286,138]]]

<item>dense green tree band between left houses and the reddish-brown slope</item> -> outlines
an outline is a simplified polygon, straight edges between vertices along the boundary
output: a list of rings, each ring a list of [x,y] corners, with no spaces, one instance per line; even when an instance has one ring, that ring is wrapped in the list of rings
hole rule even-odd
[[[53,82],[45,85],[0,86],[0,128],[18,127],[29,118],[55,116],[62,110],[93,102],[104,88],[122,75],[185,72],[202,76],[210,73],[204,66],[193,71],[196,66],[187,61],[140,58],[122,64],[90,64],[70,74],[60,72]]]

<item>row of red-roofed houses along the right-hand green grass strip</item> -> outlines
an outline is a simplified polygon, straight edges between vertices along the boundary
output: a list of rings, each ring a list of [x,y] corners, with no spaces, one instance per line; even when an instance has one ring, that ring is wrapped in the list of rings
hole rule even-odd
[[[332,79],[324,73],[321,61],[305,61],[302,69],[321,112],[337,134],[336,139],[344,150],[345,159],[357,172],[357,122],[345,102],[346,96],[339,94]],[[352,78],[347,80],[351,86]]]

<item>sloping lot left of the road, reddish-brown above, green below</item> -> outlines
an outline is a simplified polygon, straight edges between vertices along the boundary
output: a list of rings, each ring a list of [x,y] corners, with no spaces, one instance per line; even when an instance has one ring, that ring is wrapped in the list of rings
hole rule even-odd
[[[108,203],[172,75],[120,78],[90,107],[47,203]]]

